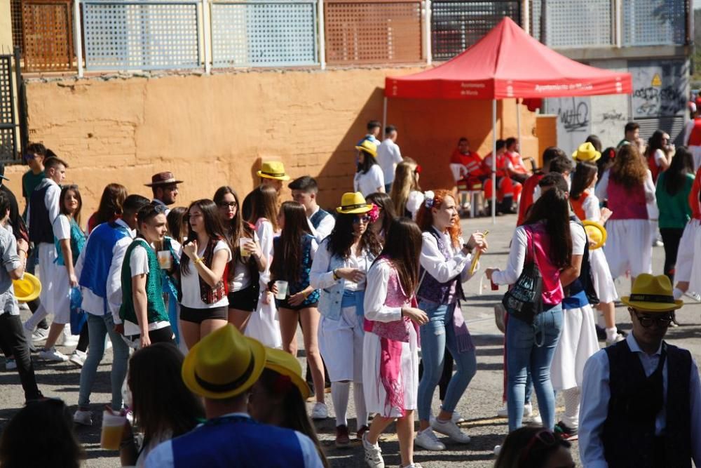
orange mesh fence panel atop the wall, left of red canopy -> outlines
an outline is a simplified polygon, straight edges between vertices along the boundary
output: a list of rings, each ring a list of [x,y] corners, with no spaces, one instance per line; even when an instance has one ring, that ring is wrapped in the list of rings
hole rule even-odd
[[[423,59],[420,1],[332,0],[324,12],[329,65]]]

